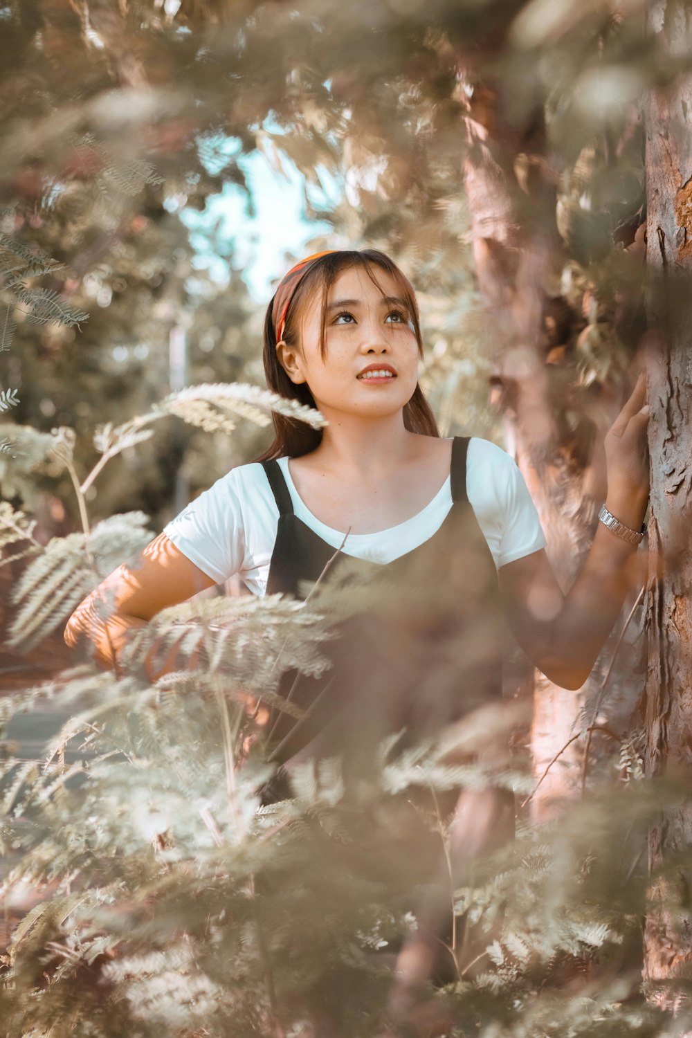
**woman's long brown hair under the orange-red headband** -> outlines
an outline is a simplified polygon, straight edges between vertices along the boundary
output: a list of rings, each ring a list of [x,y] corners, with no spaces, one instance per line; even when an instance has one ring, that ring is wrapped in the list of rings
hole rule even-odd
[[[363,268],[381,292],[383,292],[382,285],[378,283],[371,267],[379,267],[381,270],[384,270],[387,274],[391,275],[407,304],[416,342],[418,343],[418,353],[422,357],[423,343],[420,335],[418,304],[416,302],[414,291],[411,288],[408,278],[402,273],[396,264],[393,263],[389,256],[385,255],[384,252],[380,252],[378,249],[361,249],[360,251],[355,249],[337,250],[328,252],[326,255],[314,261],[313,265],[298,284],[295,295],[290,300],[283,327],[283,342],[288,346],[298,345],[298,328],[300,327],[302,306],[305,304],[306,300],[311,298],[313,291],[322,288],[322,333],[320,338],[320,352],[324,360],[326,350],[325,332],[327,329],[327,297],[329,289],[339,274],[345,270],[351,270],[353,267]],[[267,386],[269,389],[279,393],[281,397],[286,397],[289,400],[297,400],[301,404],[307,404],[310,407],[316,407],[307,383],[302,382],[297,385],[295,382],[292,382],[279,363],[279,358],[276,354],[276,332],[274,330],[274,321],[272,319],[273,304],[274,298],[270,301],[265,316],[265,345],[262,360],[265,364]],[[274,442],[270,447],[268,447],[267,450],[265,450],[262,455],[260,455],[259,458],[255,458],[255,461],[266,461],[270,458],[282,458],[285,455],[289,458],[300,458],[301,455],[314,450],[322,441],[321,429],[313,429],[311,426],[308,426],[305,421],[301,421],[298,418],[285,417],[284,415],[277,414],[273,411],[272,420],[274,421]],[[412,433],[420,433],[423,436],[440,435],[437,421],[435,420],[435,415],[433,414],[431,406],[423,395],[422,389],[417,383],[411,400],[404,405],[404,425],[406,429]]]

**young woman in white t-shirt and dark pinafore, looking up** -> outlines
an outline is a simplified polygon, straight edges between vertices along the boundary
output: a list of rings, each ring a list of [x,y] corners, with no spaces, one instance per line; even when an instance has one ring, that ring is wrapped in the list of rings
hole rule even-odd
[[[418,385],[421,356],[413,290],[383,253],[332,250],[292,268],[267,310],[267,382],[316,407],[328,425],[315,431],[274,415],[266,455],[222,476],[136,566],[103,581],[71,618],[67,643],[84,633],[99,659],[117,661],[133,628],[233,573],[256,595],[304,597],[338,559],[342,572],[378,571],[394,583],[384,582],[377,612],[353,618],[336,640],[330,694],[325,681],[303,682],[301,705],[314,707],[308,723],[281,729],[277,720],[273,747],[283,764],[348,748],[358,770],[403,725],[413,735],[439,732],[499,699],[498,620],[549,679],[581,687],[622,606],[641,540],[644,377],[606,437],[605,506],[615,519],[599,523],[564,596],[517,465],[489,441],[440,437]],[[104,622],[94,602],[107,593],[114,608]],[[510,834],[507,816],[506,798],[492,791],[462,795],[460,869],[465,855]],[[402,972],[413,983],[433,957],[421,938],[405,949]]]

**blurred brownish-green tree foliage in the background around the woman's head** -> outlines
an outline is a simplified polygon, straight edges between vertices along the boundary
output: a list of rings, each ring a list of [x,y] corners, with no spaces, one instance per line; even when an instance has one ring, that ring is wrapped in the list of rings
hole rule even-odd
[[[545,347],[551,364],[566,368],[562,382],[588,390],[573,394],[565,425],[577,428],[602,392],[617,391],[633,348],[632,328],[618,325],[618,294],[630,285],[636,298],[638,283],[622,249],[644,219],[637,103],[686,60],[681,49],[670,66],[638,4],[564,3],[550,17],[537,0],[425,8],[360,0],[348,15],[323,0],[285,10],[135,2],[112,19],[88,9],[57,20],[38,3],[29,17],[16,0],[0,45],[12,99],[0,176],[17,199],[0,227],[0,270],[5,324],[20,319],[9,367],[24,394],[19,420],[36,425],[45,411],[48,422],[83,433],[94,416],[142,413],[165,392],[170,326],[190,313],[193,382],[260,383],[259,315],[240,277],[220,289],[193,270],[178,216],[202,209],[224,183],[246,187],[242,158],[256,148],[277,168],[286,159],[298,166],[314,189],[308,213],[331,221],[341,242],[382,247],[410,275],[428,347],[421,381],[443,434],[473,430],[500,441],[487,385],[504,346],[502,315],[496,326],[476,317],[472,251],[482,228],[460,191],[477,158],[468,103],[489,84],[507,99],[489,147],[498,168],[516,172],[526,219],[539,216],[536,179],[554,196],[552,213],[541,211],[552,221],[544,229],[553,253]],[[16,89],[25,64],[34,77],[30,115]],[[511,154],[522,120],[537,126],[544,111],[545,134]],[[237,146],[222,147],[228,140]],[[311,200],[325,176],[343,185],[334,204]],[[212,245],[225,248],[219,238]],[[40,292],[58,292],[62,306],[72,297],[88,315],[79,344],[58,315],[44,328],[13,313],[13,281],[39,276]],[[163,518],[172,481],[162,479],[162,458],[172,472],[187,452],[201,488],[261,440],[236,443],[222,431],[213,441],[157,437],[134,469],[130,455],[119,460],[123,477],[101,489],[94,508]],[[66,484],[58,493],[67,498]]]

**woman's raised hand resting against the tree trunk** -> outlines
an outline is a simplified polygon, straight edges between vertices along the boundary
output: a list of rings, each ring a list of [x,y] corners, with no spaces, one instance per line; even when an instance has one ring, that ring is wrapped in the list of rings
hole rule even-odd
[[[604,441],[609,500],[645,503],[649,494],[648,406],[646,375],[639,373],[630,399]]]

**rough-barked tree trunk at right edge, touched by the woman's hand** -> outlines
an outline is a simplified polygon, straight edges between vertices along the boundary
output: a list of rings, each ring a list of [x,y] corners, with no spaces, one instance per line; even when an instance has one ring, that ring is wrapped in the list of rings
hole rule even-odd
[[[674,60],[689,55],[690,15],[659,2],[649,27]],[[645,770],[682,774],[692,764],[692,78],[653,91],[646,132],[647,247],[652,351],[649,452],[652,473],[648,668],[643,700]],[[689,771],[687,783],[689,784]],[[684,778],[685,781],[685,778]],[[692,846],[692,802],[666,812],[649,829],[649,869]],[[675,1008],[692,979],[692,870],[674,880],[655,878],[649,894],[660,907],[644,930],[645,989],[653,1002]],[[682,980],[682,984],[679,981]]]

